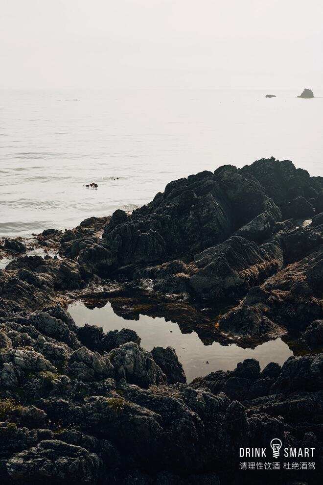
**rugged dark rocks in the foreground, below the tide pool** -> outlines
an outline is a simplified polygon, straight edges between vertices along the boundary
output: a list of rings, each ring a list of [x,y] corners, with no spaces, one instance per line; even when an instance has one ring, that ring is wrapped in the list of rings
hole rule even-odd
[[[185,384],[173,349],[74,350],[33,325],[48,315],[84,337],[60,306],[0,326],[1,484],[233,484],[239,446],[305,446],[311,433],[321,452],[323,354],[262,371],[248,359]]]

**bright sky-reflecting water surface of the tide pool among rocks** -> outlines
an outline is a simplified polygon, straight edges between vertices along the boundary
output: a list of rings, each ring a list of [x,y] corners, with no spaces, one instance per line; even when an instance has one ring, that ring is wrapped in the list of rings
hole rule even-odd
[[[182,334],[177,323],[146,315],[140,315],[139,320],[126,320],[114,313],[110,303],[102,308],[89,309],[78,301],[69,305],[69,313],[79,326],[90,323],[102,327],[105,332],[131,328],[137,332],[142,347],[147,350],[170,345],[183,364],[187,382],[219,369],[232,370],[244,359],[254,358],[263,368],[269,362],[283,364],[293,355],[281,339],[265,342],[255,349],[243,349],[235,344],[223,346],[218,342],[204,345],[196,332]]]

